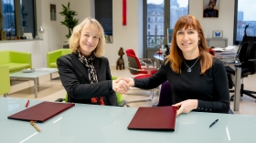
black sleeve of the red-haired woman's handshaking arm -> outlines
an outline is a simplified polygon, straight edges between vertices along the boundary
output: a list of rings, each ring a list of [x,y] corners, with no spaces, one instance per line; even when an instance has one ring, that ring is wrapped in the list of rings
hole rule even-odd
[[[167,65],[168,66],[168,65]],[[136,79],[134,77],[134,87],[142,89],[152,89],[158,87],[167,80],[167,67],[162,65],[152,77]]]

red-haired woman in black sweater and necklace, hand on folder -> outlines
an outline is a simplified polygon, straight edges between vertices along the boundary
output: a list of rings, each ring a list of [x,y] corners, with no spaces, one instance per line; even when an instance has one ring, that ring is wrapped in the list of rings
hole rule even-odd
[[[223,63],[208,52],[202,26],[193,15],[181,16],[174,28],[170,55],[149,78],[125,80],[129,86],[155,88],[168,80],[176,116],[191,110],[229,112],[229,87]]]

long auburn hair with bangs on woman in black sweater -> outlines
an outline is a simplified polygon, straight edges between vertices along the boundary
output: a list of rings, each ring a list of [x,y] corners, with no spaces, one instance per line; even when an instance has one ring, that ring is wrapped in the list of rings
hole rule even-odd
[[[200,66],[201,66],[201,73],[205,74],[208,68],[212,66],[212,58],[213,56],[209,54],[208,52],[208,46],[206,43],[206,38],[204,36],[202,26],[200,25],[197,18],[193,15],[183,15],[181,16],[177,22],[176,26],[174,28],[173,38],[172,38],[172,46],[171,46],[171,53],[170,55],[166,56],[165,59],[165,65],[170,62],[171,68],[174,72],[180,74],[181,73],[181,64],[184,60],[184,56],[182,54],[181,49],[176,44],[176,34],[179,29],[182,28],[193,28],[197,30],[198,36],[200,37],[200,40],[198,41],[198,48],[199,48],[199,60],[200,60]]]

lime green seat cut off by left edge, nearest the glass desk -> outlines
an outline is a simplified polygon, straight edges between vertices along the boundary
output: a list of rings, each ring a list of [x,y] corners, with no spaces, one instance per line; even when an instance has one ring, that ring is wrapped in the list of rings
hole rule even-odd
[[[10,92],[10,77],[9,77],[9,67],[0,66],[0,95],[6,95]]]

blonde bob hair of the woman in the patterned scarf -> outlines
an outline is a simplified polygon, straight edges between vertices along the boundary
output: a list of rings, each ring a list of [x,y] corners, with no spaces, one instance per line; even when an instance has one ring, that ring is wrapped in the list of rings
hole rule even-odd
[[[104,54],[104,44],[105,44],[104,30],[101,24],[96,19],[93,19],[91,17],[85,18],[78,26],[74,27],[73,33],[69,38],[69,48],[72,50],[73,53],[77,53],[77,50],[80,47],[80,32],[82,28],[87,24],[97,26],[100,31],[99,43],[93,52],[95,56],[101,57]]]

